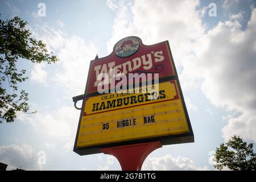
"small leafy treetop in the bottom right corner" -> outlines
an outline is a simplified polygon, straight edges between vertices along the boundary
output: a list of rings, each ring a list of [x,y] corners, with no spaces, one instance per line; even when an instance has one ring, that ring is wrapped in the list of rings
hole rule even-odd
[[[228,167],[234,171],[255,171],[256,154],[253,152],[253,143],[247,145],[242,138],[234,135],[228,140],[228,143],[221,143],[216,148],[214,155],[214,165],[217,169]]]

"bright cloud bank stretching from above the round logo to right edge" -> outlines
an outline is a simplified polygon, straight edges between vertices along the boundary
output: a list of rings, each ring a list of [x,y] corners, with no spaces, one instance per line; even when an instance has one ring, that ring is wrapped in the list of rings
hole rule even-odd
[[[237,3],[226,0],[223,7]],[[211,104],[242,113],[229,119],[222,130],[224,138],[236,133],[256,140],[252,117],[256,113],[256,9],[246,30],[238,22],[243,18],[240,12],[205,32],[204,8],[196,10],[197,5],[199,1],[189,0],[119,2],[108,50],[130,35],[141,37],[145,44],[169,40],[176,66],[183,66],[182,88],[200,88]]]

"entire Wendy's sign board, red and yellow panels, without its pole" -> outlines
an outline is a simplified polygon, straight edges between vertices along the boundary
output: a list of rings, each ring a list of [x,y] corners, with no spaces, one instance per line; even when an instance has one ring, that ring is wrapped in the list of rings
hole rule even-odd
[[[112,74],[122,80],[112,80]],[[105,82],[108,77],[110,82]],[[129,82],[123,82],[127,78]],[[168,41],[145,46],[136,36],[124,38],[109,56],[90,62],[87,79],[73,150],[77,154],[142,142],[194,142]],[[110,92],[101,93],[99,85],[108,85]],[[119,88],[122,92],[116,92]]]

